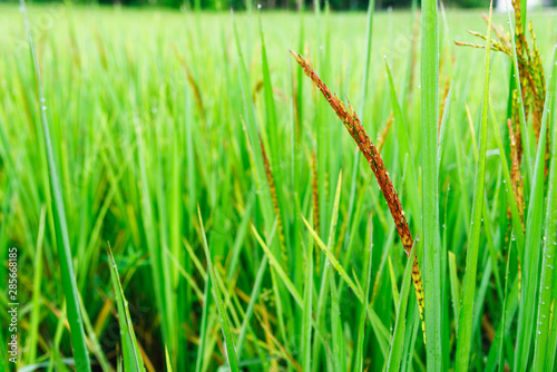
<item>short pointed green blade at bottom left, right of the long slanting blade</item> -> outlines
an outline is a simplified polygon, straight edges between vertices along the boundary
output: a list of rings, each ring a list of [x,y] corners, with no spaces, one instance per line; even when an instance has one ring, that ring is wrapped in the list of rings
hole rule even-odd
[[[118,307],[118,324],[120,325],[121,335],[121,354],[124,359],[124,369],[126,371],[145,371],[145,365],[137,345],[131,317],[129,315],[128,302],[121,288],[120,277],[116,261],[114,260],[110,244],[107,246],[108,266],[110,268],[110,277],[113,280],[114,293],[116,295],[116,305]]]

